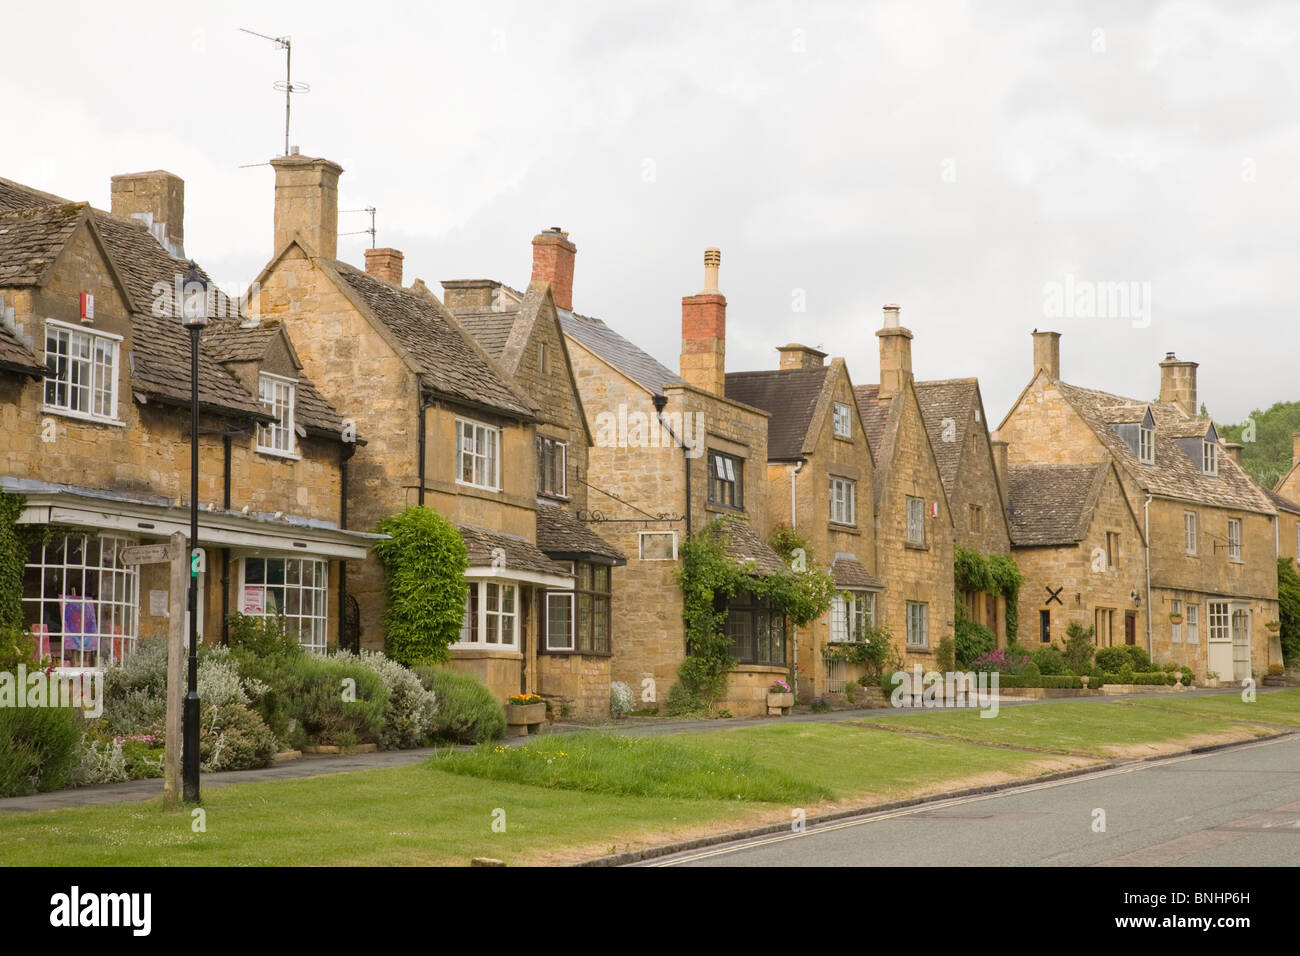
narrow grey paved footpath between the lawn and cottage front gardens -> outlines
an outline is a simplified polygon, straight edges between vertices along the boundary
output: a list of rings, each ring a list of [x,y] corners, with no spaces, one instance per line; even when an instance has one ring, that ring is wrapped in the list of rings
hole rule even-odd
[[[1270,688],[1271,689],[1271,688]],[[1282,689],[1282,688],[1278,688]],[[1261,693],[1266,691],[1261,689]],[[1200,697],[1217,693],[1239,693],[1236,689],[1196,689],[1178,695],[1179,697]],[[1164,697],[1169,695],[1131,695],[1126,697],[1071,697],[1065,700],[1092,701],[1098,705],[1113,704],[1119,700],[1135,700],[1140,697]],[[1060,698],[1057,698],[1060,700]],[[1036,704],[1049,704],[1050,700],[1034,700],[1024,697],[1000,697],[998,706],[1034,706]],[[836,721],[852,721],[854,718],[870,717],[881,708],[863,708],[861,710],[832,710],[824,714],[798,713],[790,717],[768,718],[750,717],[727,721],[666,721],[654,717],[628,718],[618,723],[607,724],[576,724],[556,723],[550,732],[568,732],[580,730],[601,730],[610,734],[628,734],[633,736],[654,736],[658,734],[676,734],[684,731],[718,731],[734,727],[757,727],[771,723],[776,719],[785,722],[812,722],[829,723]],[[511,743],[511,741],[507,741]],[[358,753],[338,757],[303,757],[302,760],[277,763],[263,770],[233,770],[220,774],[204,774],[202,786],[228,787],[233,783],[257,783],[261,780],[291,780],[300,777],[320,777],[322,774],[343,774],[354,770],[378,770],[381,767],[410,766],[425,760],[429,754],[437,753],[437,747],[425,747],[416,750],[384,750],[380,753]],[[0,797],[0,813],[27,813],[31,810],[56,810],[64,806],[100,806],[107,804],[136,803],[152,800],[162,795],[162,780],[127,780],[125,783],[104,783],[94,787],[77,787],[73,790],[58,790],[51,793],[32,793],[21,797]]]

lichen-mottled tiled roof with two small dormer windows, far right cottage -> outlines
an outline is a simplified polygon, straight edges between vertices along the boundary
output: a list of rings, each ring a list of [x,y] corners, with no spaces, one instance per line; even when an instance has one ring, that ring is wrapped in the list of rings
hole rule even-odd
[[[1264,489],[1251,481],[1242,466],[1227,454],[1219,454],[1218,475],[1212,476],[1201,473],[1200,462],[1193,462],[1178,446],[1178,438],[1205,434],[1209,419],[1187,415],[1167,402],[1140,402],[1062,381],[1056,385],[1092,428],[1115,464],[1148,493],[1243,511],[1274,512],[1273,502]],[[1141,464],[1110,427],[1139,421],[1147,408],[1152,410],[1156,420],[1154,464]]]

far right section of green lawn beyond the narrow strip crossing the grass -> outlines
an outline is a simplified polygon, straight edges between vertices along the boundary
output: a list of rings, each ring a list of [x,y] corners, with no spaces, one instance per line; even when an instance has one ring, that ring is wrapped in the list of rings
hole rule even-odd
[[[1162,701],[1152,697],[1147,700]],[[997,717],[983,718],[975,709],[881,710],[867,723],[936,734],[954,740],[1026,747],[1048,753],[1078,753],[1114,757],[1139,753],[1148,745],[1170,740],[1210,737],[1225,740],[1264,736],[1265,727],[1252,727],[1221,717],[1196,713],[1162,713],[1123,706],[1112,701],[1043,701],[1001,708]],[[1260,717],[1258,719],[1264,719]]]

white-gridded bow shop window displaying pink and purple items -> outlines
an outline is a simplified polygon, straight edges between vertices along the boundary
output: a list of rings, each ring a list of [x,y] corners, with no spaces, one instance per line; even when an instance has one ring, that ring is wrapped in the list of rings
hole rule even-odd
[[[77,538],[81,538],[81,563],[69,564],[68,542]],[[90,564],[86,559],[91,541],[99,542],[98,564]],[[58,550],[60,544],[62,544],[62,561],[55,561],[55,551]],[[60,652],[56,663],[61,661],[62,666],[69,669],[103,667],[109,662],[121,663],[135,650],[140,626],[140,566],[122,564],[120,559],[121,550],[134,544],[134,538],[116,535],[74,533],[55,537],[38,545],[38,562],[31,562],[30,554],[25,557],[25,570],[27,572],[35,571],[40,585],[39,593],[34,596],[29,596],[26,584],[20,592],[23,620],[27,620],[29,613],[35,606],[35,617],[39,619],[36,623],[44,628],[47,605],[53,605],[52,610],[58,615],[60,628],[57,633],[46,632],[44,639],[49,641],[51,654],[55,641],[58,641]],[[113,549],[109,563],[105,563],[105,548]],[[23,575],[25,579],[27,576]],[[56,580],[51,580],[51,578]],[[91,580],[95,581],[98,594],[87,598],[87,583]],[[53,593],[47,593],[47,585],[53,587]],[[66,632],[64,630],[64,623],[66,623],[65,597],[92,605],[94,630],[86,628],[84,609],[82,609],[82,631]],[[34,628],[36,624],[31,624],[31,627]],[[94,649],[87,646],[91,639],[95,640]],[[42,640],[42,636],[38,636],[38,646]],[[69,641],[81,646],[69,646]]]

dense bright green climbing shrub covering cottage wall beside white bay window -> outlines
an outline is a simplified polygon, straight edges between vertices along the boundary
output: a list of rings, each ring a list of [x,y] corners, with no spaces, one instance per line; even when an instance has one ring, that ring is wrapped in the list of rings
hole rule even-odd
[[[384,562],[385,646],[394,661],[413,667],[446,663],[447,648],[460,635],[465,615],[465,542],[447,519],[430,509],[410,507],[385,518],[374,542]]]

